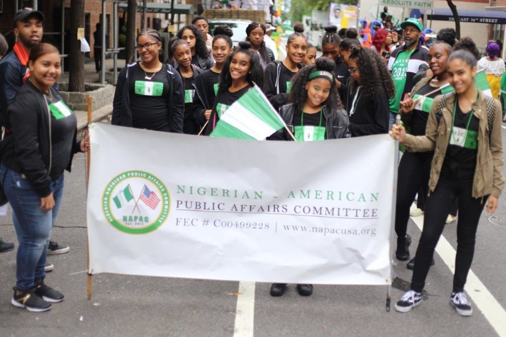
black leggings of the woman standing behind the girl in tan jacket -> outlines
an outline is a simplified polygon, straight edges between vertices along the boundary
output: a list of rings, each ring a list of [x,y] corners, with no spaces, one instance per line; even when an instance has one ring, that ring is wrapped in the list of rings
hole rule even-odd
[[[402,155],[399,163],[395,206],[395,233],[397,237],[406,235],[409,208],[418,190],[423,190],[423,195],[427,195],[432,157],[432,152],[411,153],[406,151]]]

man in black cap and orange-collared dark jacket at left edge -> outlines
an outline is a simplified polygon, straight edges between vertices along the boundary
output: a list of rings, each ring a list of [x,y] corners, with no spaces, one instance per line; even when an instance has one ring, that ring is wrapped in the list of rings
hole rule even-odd
[[[13,50],[0,61],[0,126],[5,127],[7,108],[14,101],[19,88],[30,76],[28,55],[42,39],[44,15],[39,11],[21,9],[14,14],[14,34],[17,42]],[[63,254],[68,246],[50,241],[48,255]],[[47,266],[47,271],[52,265]]]

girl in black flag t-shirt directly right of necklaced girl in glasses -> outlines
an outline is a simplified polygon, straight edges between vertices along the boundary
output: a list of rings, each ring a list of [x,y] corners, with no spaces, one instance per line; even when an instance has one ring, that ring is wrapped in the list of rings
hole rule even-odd
[[[195,88],[193,81],[202,70],[191,63],[190,47],[185,40],[173,37],[169,43],[171,46],[172,58],[178,64],[178,72],[183,80],[184,102],[183,106],[183,133],[188,135],[198,135],[201,126],[193,117],[191,110]]]

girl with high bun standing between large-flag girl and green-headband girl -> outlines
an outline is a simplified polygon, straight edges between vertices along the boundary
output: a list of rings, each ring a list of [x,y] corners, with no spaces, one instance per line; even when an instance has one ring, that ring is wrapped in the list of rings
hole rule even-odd
[[[293,26],[294,33],[288,36],[286,41],[286,58],[280,61],[269,63],[265,67],[264,88],[262,90],[269,99],[274,109],[279,108],[288,102],[288,94],[291,88],[291,78],[304,65],[301,63],[306,55],[308,41],[304,35],[304,26],[296,24]]]

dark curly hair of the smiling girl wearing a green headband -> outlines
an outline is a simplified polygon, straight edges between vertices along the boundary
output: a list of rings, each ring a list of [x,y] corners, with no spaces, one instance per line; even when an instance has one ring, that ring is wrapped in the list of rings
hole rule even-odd
[[[334,60],[328,57],[319,57],[316,63],[305,66],[299,70],[291,79],[291,91],[288,95],[288,102],[293,103],[294,107],[298,110],[304,108],[308,100],[308,91],[306,90],[306,83],[309,81],[309,74],[315,70],[324,70],[333,73],[335,67]],[[343,109],[343,103],[339,98],[338,88],[335,86],[335,81],[331,82],[330,95],[322,103],[326,105],[329,110]]]

